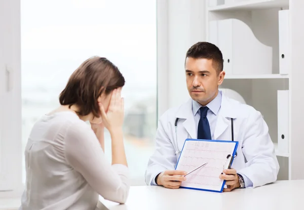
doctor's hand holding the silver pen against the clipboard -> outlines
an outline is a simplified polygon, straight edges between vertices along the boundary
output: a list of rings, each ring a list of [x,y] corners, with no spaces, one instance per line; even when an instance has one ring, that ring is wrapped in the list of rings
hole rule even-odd
[[[167,170],[159,174],[157,178],[157,184],[166,188],[177,189],[180,187],[182,181],[186,181],[183,175],[186,175],[185,171]]]

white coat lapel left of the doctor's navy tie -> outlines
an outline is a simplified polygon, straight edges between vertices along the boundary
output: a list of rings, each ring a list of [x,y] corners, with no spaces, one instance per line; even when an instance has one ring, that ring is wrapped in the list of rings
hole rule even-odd
[[[180,119],[185,119],[185,121],[182,123],[183,127],[188,132],[190,138],[196,139],[197,134],[194,115],[192,112],[192,99],[189,99],[180,107],[180,109],[176,113],[176,117]]]

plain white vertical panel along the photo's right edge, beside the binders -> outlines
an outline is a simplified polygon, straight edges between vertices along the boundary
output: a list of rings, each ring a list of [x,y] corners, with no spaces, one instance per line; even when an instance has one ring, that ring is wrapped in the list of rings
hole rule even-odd
[[[291,97],[291,120],[290,130],[290,149],[289,167],[291,179],[304,178],[304,140],[303,140],[303,120],[304,120],[304,97],[303,97],[303,49],[304,49],[304,1],[289,1],[290,13],[290,39],[291,39],[291,78],[290,96]]]

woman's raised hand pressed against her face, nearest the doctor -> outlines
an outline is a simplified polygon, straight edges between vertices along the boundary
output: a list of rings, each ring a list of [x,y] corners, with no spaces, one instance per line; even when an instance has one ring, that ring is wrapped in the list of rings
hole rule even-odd
[[[122,89],[115,89],[111,93],[110,104],[107,112],[100,104],[100,112],[104,127],[110,132],[122,130],[124,123],[124,99],[121,97]]]

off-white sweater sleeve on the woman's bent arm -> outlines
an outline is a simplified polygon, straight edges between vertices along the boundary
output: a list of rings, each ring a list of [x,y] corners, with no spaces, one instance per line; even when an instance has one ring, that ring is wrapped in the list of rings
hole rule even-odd
[[[65,157],[67,162],[107,200],[125,203],[130,183],[128,167],[111,165],[105,158],[97,137],[87,124],[74,123],[66,133]]]

